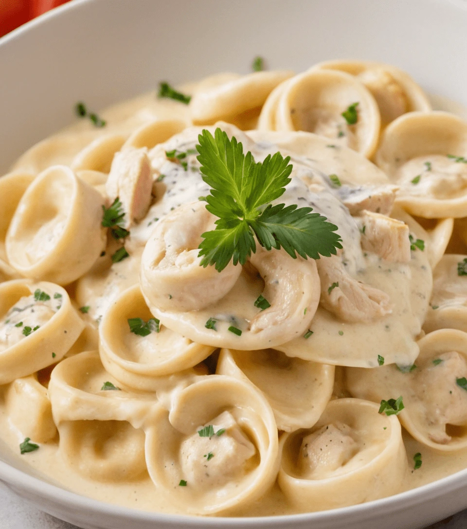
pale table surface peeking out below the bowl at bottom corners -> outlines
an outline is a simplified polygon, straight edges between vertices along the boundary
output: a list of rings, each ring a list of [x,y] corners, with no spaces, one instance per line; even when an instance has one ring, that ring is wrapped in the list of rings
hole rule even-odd
[[[48,514],[31,507],[18,498],[0,482],[0,528],[1,529],[80,529],[76,525],[61,522]],[[452,518],[432,525],[427,529],[466,529],[467,510]],[[129,528],[130,529],[130,528]],[[394,529],[400,527],[394,526]]]

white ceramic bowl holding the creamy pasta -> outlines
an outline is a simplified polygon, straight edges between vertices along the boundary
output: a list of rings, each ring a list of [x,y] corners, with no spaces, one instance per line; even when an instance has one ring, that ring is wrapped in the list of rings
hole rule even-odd
[[[393,63],[429,93],[467,106],[465,0],[75,0],[0,39],[0,174],[34,142],[101,108],[218,71],[304,70],[325,59]],[[467,507],[467,470],[430,485],[321,513],[194,518],[78,496],[0,443],[0,479],[40,509],[85,529],[187,527],[419,528]]]

